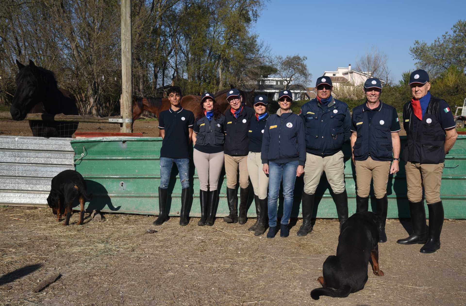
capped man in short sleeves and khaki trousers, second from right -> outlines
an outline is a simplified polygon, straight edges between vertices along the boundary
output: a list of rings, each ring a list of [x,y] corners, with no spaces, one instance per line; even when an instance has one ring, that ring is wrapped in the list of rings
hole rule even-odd
[[[400,122],[397,110],[380,100],[381,93],[380,80],[367,79],[364,83],[366,102],[356,106],[351,117],[351,151],[356,168],[356,212],[369,209],[370,181],[373,181],[379,242],[386,242],[388,174],[399,170]]]

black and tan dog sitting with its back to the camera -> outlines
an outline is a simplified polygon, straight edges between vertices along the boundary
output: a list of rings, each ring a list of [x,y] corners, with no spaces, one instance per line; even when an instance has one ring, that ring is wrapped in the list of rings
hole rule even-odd
[[[338,237],[336,256],[327,257],[323,263],[323,276],[317,278],[322,288],[311,291],[313,299],[321,295],[345,298],[349,293],[364,288],[367,282],[367,264],[377,276],[384,276],[378,264],[379,234],[377,216],[370,212],[359,212],[343,223]]]

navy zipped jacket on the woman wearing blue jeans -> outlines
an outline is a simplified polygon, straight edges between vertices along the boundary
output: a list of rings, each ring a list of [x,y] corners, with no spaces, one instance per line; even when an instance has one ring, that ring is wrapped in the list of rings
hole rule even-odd
[[[299,160],[299,165],[306,162],[306,141],[304,124],[298,115],[287,112],[271,115],[266,122],[260,159],[263,164],[269,161],[287,163]]]

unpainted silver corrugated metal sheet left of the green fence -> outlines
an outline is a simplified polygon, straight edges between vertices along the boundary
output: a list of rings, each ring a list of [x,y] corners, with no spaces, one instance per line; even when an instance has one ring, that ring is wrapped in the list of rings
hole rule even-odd
[[[0,136],[0,203],[47,205],[52,178],[73,169],[70,140]]]

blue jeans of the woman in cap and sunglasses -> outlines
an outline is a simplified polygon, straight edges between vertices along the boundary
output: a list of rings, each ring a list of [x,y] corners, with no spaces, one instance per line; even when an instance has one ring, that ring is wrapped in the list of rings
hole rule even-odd
[[[268,226],[277,226],[277,202],[280,183],[283,177],[283,216],[281,224],[288,224],[293,207],[293,190],[295,189],[296,169],[299,162],[286,164],[268,162]]]

